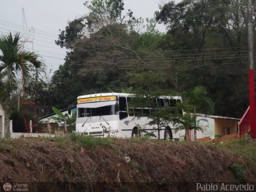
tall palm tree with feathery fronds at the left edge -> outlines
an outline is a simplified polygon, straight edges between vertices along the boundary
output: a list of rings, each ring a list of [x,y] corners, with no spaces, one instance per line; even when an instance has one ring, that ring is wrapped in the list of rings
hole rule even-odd
[[[33,52],[22,51],[19,33],[14,33],[14,36],[12,36],[12,33],[0,36],[0,73],[7,77],[4,100],[5,137],[10,137],[10,94],[11,87],[16,85],[16,75],[22,71],[25,76],[31,75],[33,65],[36,74],[43,72],[44,64],[38,58],[39,56]]]

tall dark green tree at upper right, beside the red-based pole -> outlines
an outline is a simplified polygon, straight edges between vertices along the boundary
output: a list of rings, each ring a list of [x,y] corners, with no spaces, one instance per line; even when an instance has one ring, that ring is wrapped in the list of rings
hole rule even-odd
[[[205,86],[216,115],[240,118],[248,107],[246,7],[243,0],[182,0],[156,12],[168,29],[162,47],[175,63],[176,89]]]

